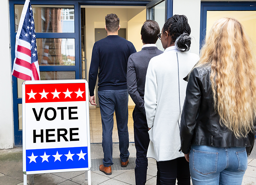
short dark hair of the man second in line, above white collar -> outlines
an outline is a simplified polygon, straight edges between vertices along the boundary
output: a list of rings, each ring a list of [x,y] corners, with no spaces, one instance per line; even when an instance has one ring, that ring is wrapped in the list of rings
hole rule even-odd
[[[159,25],[154,20],[146,20],[142,25],[140,32],[144,44],[155,44],[159,33]]]

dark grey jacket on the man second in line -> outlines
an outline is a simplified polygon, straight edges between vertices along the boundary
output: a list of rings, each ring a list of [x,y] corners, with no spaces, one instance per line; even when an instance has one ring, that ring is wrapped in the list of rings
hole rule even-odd
[[[141,51],[133,53],[128,59],[127,88],[136,107],[146,116],[144,107],[144,89],[147,67],[150,60],[163,53],[157,47],[143,47]]]

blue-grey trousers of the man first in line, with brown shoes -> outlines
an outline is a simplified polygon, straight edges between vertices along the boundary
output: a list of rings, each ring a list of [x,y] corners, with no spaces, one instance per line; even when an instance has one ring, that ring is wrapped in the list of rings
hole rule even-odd
[[[122,162],[129,158],[129,133],[128,133],[128,92],[123,90],[98,91],[100,114],[102,123],[102,148],[104,152],[103,165],[113,165],[112,131],[114,126],[114,112],[119,138],[119,151]]]

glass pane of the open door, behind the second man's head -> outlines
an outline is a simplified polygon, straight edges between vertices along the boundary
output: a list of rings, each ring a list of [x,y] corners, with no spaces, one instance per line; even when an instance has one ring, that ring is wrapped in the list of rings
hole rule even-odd
[[[165,24],[165,1],[162,1],[150,9],[150,19],[157,21],[161,31]],[[157,40],[156,46],[158,49],[164,51],[160,39]]]

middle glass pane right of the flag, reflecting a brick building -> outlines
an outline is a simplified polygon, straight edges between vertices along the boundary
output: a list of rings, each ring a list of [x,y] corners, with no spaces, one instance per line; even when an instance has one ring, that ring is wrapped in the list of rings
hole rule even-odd
[[[39,65],[75,65],[74,38],[37,38]]]

